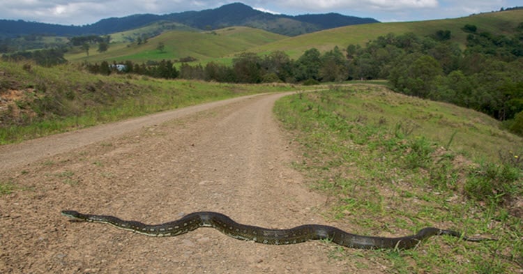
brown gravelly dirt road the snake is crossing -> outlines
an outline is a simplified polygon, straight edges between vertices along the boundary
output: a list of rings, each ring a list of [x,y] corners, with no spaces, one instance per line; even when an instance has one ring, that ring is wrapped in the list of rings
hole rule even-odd
[[[160,223],[192,211],[289,228],[326,224],[326,197],[291,168],[272,116],[249,96],[0,147],[0,273],[347,273],[321,241],[262,245],[214,229],[153,238],[68,222],[63,209]],[[146,122],[144,122],[146,121]],[[350,230],[347,224],[334,224]]]

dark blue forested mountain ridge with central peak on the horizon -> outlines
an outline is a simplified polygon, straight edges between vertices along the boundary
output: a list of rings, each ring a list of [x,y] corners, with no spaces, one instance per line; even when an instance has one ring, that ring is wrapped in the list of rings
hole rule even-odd
[[[82,26],[26,22],[24,20],[0,20],[0,37],[29,34],[55,36],[107,35],[119,31],[128,31],[161,20],[177,22],[201,30],[220,29],[227,26],[250,26],[286,36],[297,36],[338,26],[379,22],[372,18],[340,15],[338,13],[275,15],[264,13],[243,3],[230,3],[219,8],[200,11],[192,10],[165,15],[145,13],[125,17],[109,17]]]

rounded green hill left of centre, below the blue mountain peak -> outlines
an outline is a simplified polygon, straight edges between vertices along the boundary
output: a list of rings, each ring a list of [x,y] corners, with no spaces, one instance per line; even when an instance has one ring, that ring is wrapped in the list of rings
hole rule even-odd
[[[100,62],[103,60],[142,62],[192,56],[198,61],[205,62],[286,37],[245,26],[234,26],[208,32],[167,31],[160,36],[149,39],[147,43],[142,45],[112,43],[109,50],[103,53],[96,52],[96,48],[91,49],[89,56],[77,48],[66,54],[66,59],[73,62]],[[158,43],[165,45],[163,51],[157,50]]]

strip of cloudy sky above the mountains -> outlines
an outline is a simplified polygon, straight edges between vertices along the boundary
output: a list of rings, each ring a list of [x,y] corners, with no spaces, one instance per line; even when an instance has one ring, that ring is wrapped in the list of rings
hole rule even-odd
[[[218,8],[233,2],[271,13],[341,13],[372,17],[381,22],[454,18],[523,6],[523,0],[0,0],[0,19],[83,25],[107,17],[179,13]]]

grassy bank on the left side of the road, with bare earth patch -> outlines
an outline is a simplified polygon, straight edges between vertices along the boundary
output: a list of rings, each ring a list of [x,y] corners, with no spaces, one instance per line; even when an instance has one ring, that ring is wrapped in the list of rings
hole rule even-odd
[[[137,75],[92,75],[73,65],[0,61],[0,144],[291,85],[219,84]],[[13,124],[13,121],[16,123]]]

